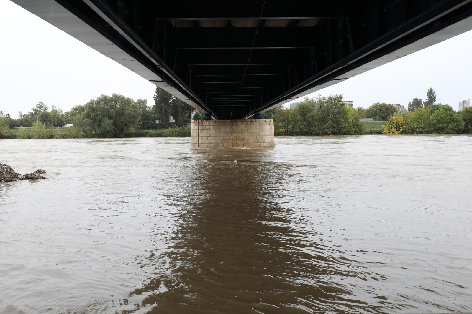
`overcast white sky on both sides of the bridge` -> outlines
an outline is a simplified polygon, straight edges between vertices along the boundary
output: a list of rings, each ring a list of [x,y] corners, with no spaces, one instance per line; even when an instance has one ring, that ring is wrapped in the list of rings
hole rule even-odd
[[[0,0],[0,12],[0,110],[17,118],[42,101],[66,111],[112,93],[153,104],[154,84],[9,0]],[[472,31],[315,94],[343,94],[367,108],[377,101],[407,105],[432,87],[438,102],[457,110],[472,97],[471,55]]]

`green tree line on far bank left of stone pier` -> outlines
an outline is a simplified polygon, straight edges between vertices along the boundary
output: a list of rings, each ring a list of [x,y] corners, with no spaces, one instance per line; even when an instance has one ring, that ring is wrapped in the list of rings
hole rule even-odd
[[[152,106],[119,94],[101,95],[65,112],[38,103],[18,119],[0,118],[0,138],[190,137],[190,121],[203,119],[202,113],[191,117],[192,111],[159,87]]]

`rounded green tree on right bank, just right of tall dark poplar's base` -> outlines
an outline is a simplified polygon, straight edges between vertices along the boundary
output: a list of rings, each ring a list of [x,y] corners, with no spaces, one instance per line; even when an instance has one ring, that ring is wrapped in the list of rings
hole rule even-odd
[[[461,113],[452,110],[451,106],[442,105],[430,116],[434,134],[455,134],[464,129],[464,118]]]

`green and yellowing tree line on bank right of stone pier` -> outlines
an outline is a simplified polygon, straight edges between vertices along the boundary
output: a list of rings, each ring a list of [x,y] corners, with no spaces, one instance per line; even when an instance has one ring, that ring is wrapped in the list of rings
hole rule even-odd
[[[408,112],[399,113],[396,105],[375,103],[356,109],[346,105],[342,95],[304,98],[295,108],[274,108],[264,118],[274,119],[275,135],[360,135],[360,134],[458,134],[472,133],[472,107],[456,112],[449,105],[436,103],[432,88],[422,101],[414,98]],[[368,129],[372,118],[382,128]]]

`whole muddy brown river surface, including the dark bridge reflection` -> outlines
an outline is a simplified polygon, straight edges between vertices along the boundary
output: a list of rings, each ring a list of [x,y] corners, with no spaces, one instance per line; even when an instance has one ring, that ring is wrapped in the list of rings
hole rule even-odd
[[[472,136],[1,140],[0,313],[472,312]]]

